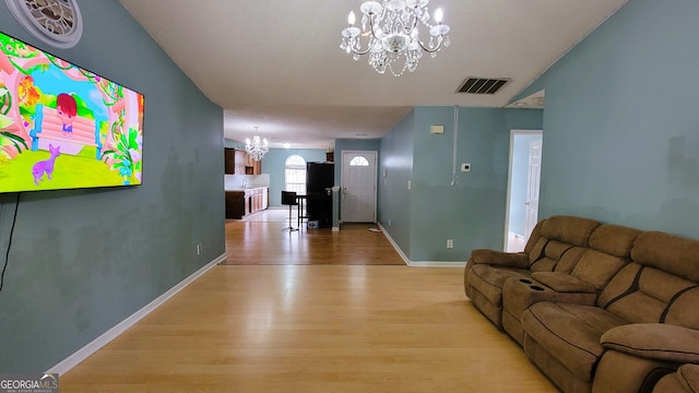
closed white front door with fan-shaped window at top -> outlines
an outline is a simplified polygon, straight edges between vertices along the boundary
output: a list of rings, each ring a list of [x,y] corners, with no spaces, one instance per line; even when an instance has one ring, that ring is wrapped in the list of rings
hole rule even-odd
[[[342,152],[341,213],[345,223],[376,222],[377,152]]]

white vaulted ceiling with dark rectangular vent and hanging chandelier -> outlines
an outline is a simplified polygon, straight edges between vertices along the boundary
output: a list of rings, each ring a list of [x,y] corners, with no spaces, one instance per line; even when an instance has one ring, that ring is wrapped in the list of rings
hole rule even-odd
[[[259,127],[272,147],[319,148],[381,138],[416,105],[503,107],[626,1],[433,0],[451,46],[394,78],[340,49],[360,0],[120,0],[224,108],[226,139],[244,141]],[[467,76],[512,81],[491,96],[455,93]]]

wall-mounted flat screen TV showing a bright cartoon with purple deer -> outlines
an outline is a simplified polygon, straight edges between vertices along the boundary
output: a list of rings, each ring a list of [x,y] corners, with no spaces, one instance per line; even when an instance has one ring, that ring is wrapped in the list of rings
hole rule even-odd
[[[137,186],[143,95],[0,33],[0,193]]]

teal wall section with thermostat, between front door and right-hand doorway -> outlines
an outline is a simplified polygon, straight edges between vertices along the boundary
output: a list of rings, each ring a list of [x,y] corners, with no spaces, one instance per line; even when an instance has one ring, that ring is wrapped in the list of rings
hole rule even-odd
[[[431,124],[445,133],[430,134]],[[541,110],[458,108],[455,117],[454,107],[414,108],[381,144],[380,170],[389,174],[386,184],[379,180],[381,225],[414,262],[463,262],[474,248],[502,249],[510,130],[541,128]],[[471,171],[461,172],[461,163]]]

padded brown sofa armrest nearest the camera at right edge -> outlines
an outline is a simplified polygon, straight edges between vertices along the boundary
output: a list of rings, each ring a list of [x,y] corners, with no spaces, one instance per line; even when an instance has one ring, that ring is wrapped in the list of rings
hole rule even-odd
[[[600,338],[605,348],[641,358],[699,362],[699,331],[666,323],[632,323],[609,329]]]

